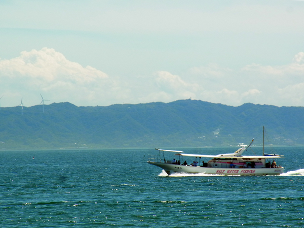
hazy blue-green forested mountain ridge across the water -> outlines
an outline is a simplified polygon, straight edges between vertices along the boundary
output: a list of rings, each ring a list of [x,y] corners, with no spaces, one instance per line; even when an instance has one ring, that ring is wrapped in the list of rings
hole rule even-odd
[[[196,100],[107,107],[70,103],[1,108],[0,150],[304,145],[304,108]]]

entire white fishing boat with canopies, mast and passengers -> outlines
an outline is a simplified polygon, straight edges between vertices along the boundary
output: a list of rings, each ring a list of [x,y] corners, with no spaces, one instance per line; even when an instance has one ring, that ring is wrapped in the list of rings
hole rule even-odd
[[[264,140],[263,140],[264,141]],[[253,140],[252,140],[253,142]],[[249,146],[252,144],[249,144]],[[284,172],[284,167],[278,166],[274,162],[276,158],[281,158],[278,154],[264,154],[261,156],[243,156],[243,152],[249,147],[240,145],[240,148],[234,153],[203,155],[203,154],[187,154],[179,150],[163,150],[157,149],[159,154],[156,156],[148,156],[148,164],[158,166],[166,171],[168,175],[173,173],[204,173],[219,175],[239,175],[239,176],[257,176],[257,175],[280,175]],[[163,154],[161,153],[163,152]],[[195,157],[195,161],[190,165],[180,165],[178,161],[172,162],[171,159],[165,158],[165,152],[173,152],[175,155],[182,157]],[[172,153],[171,153],[172,155]],[[197,161],[199,158],[199,161]],[[202,158],[212,158],[208,162],[201,162]],[[192,158],[193,159],[193,158]],[[272,162],[273,161],[273,162]],[[198,162],[198,164],[196,164]]]

